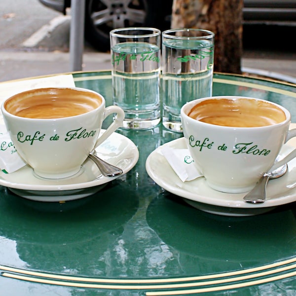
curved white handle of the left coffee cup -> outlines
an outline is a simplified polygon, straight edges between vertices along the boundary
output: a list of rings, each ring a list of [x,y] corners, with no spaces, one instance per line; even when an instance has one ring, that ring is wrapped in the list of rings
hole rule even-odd
[[[111,123],[111,125],[107,128],[103,135],[98,138],[94,148],[97,148],[100,144],[102,144],[117,128],[123,126],[124,111],[118,106],[107,107],[105,109],[103,120],[105,120],[112,113],[117,114],[115,120]]]

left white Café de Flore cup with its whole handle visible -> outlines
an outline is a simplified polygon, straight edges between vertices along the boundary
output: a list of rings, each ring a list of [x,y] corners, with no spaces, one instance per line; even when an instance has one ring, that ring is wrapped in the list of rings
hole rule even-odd
[[[75,175],[124,119],[121,108],[105,107],[102,95],[77,87],[18,93],[2,103],[1,111],[18,153],[38,176],[48,179]],[[112,113],[117,113],[116,119],[99,137],[104,119]]]

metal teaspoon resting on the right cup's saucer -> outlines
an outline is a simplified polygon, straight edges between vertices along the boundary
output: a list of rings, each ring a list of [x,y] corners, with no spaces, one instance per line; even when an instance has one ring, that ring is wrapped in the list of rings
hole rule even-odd
[[[264,202],[266,198],[266,185],[269,179],[276,179],[283,176],[287,172],[287,163],[279,168],[264,174],[255,187],[244,197],[245,202],[257,204]]]

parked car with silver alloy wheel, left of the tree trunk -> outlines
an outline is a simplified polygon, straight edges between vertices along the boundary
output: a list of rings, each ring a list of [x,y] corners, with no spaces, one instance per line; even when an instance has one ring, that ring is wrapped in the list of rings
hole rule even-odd
[[[71,0],[39,0],[54,10],[66,13]],[[113,28],[169,28],[172,0],[85,0],[84,37],[100,51],[110,49]]]

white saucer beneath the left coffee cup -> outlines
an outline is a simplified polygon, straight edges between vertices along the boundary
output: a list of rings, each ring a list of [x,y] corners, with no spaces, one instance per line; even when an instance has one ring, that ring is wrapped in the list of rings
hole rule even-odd
[[[89,158],[73,177],[51,180],[37,177],[33,169],[26,165],[20,170],[4,174],[0,172],[0,185],[15,194],[37,201],[67,201],[83,198],[101,190],[107,183],[130,171],[139,159],[136,145],[127,137],[113,133],[96,149],[102,159],[123,170],[121,175],[104,177]]]

